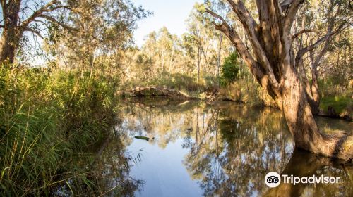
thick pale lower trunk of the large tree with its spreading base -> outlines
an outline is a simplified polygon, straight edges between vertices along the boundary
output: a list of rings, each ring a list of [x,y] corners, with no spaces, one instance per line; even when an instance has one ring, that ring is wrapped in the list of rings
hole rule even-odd
[[[289,131],[294,136],[295,146],[319,155],[348,160],[353,158],[353,136],[333,136],[319,131],[311,113],[311,108],[306,100],[304,86],[300,83],[297,73],[286,69],[282,97],[277,99]]]

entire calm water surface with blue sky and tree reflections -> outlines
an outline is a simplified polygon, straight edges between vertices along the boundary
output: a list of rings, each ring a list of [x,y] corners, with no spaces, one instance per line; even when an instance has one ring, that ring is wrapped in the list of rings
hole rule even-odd
[[[157,103],[120,108],[115,130],[124,147],[121,153],[129,158],[124,171],[128,192],[121,195],[353,196],[352,165],[294,149],[278,110],[232,102]],[[326,132],[352,132],[352,122],[317,121]],[[103,151],[108,158],[109,150]],[[270,189],[264,177],[271,171],[340,177],[340,182],[280,184]]]

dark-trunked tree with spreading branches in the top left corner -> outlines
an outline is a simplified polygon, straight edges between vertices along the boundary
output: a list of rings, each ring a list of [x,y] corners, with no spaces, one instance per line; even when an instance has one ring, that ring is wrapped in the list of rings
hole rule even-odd
[[[55,23],[66,30],[75,30],[70,24],[62,21],[57,13],[71,11],[71,1],[28,1],[1,0],[2,15],[0,18],[0,63],[13,63],[16,51],[25,32],[43,37],[45,26]],[[44,25],[44,27],[43,27]]]

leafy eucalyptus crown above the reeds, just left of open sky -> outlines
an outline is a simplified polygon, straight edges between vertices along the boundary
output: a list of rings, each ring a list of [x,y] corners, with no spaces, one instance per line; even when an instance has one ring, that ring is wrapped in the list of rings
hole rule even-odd
[[[105,65],[103,70],[115,72],[119,68],[121,51],[128,51],[132,44],[136,21],[150,14],[129,0],[75,1],[71,7],[71,13],[61,16],[75,25],[76,32],[54,24],[46,42],[54,54],[61,55],[56,56],[59,64],[68,63],[82,71],[90,68],[91,73],[97,59]],[[108,57],[112,61],[104,61]],[[61,63],[62,60],[66,63]]]

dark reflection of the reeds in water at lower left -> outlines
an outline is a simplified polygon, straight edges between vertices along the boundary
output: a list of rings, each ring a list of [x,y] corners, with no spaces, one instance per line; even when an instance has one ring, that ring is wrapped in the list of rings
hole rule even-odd
[[[66,177],[71,178],[59,181],[59,186],[50,196],[133,196],[144,181],[130,176],[128,163],[133,162],[135,156],[126,153],[126,146],[131,140],[123,144],[119,128],[115,131],[116,134],[70,160],[73,174]],[[76,169],[85,170],[85,173],[77,174]]]

